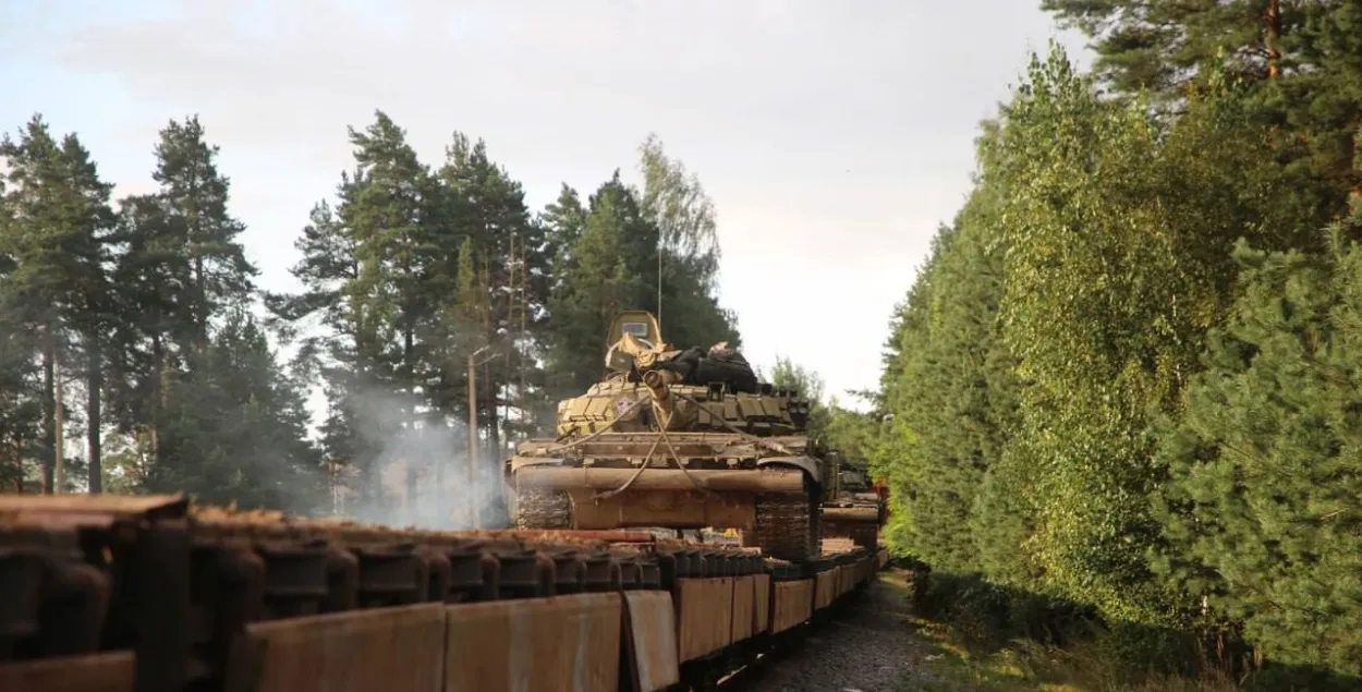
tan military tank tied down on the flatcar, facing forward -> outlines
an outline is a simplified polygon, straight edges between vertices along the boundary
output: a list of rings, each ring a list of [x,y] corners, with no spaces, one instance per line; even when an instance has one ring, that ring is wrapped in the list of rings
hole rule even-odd
[[[817,557],[829,459],[809,402],[726,343],[673,349],[646,311],[618,313],[606,343],[601,381],[558,402],[557,437],[505,460],[519,527],[735,530],[774,559]]]

